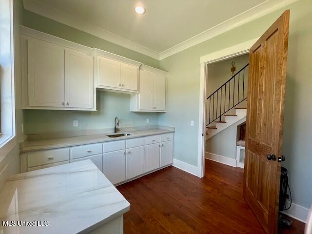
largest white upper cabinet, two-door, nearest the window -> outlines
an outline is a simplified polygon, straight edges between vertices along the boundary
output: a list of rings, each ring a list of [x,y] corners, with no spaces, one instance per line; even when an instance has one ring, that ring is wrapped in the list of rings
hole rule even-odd
[[[22,29],[23,109],[96,110],[93,49]]]

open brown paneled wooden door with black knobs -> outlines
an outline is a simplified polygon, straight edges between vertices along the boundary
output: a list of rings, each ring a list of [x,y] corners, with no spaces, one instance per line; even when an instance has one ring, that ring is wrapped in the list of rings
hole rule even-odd
[[[277,233],[288,27],[289,10],[252,46],[249,57],[244,197],[270,234]]]

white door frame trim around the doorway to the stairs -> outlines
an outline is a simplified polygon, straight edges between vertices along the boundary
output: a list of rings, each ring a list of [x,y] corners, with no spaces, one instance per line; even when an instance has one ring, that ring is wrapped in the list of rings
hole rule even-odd
[[[200,82],[199,82],[199,119],[198,119],[198,154],[197,154],[197,176],[205,175],[205,126],[206,126],[206,87],[207,87],[207,64],[231,59],[239,55],[249,53],[249,49],[259,38],[251,39],[234,46],[215,51],[200,57]]]

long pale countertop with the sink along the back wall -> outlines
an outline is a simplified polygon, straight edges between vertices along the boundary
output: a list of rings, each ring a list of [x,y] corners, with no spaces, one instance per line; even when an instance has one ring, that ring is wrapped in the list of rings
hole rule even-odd
[[[122,132],[123,131],[121,131],[120,133]],[[127,132],[131,133],[132,135],[126,136],[126,137],[114,138],[114,137],[107,137],[106,134],[95,134],[95,135],[63,137],[63,138],[45,139],[45,140],[33,140],[33,141],[26,140],[23,143],[23,147],[20,149],[20,152],[56,149],[56,148],[61,148],[61,147],[70,147],[70,146],[83,145],[83,144],[100,143],[100,142],[130,139],[130,138],[136,138],[136,137],[146,137],[146,136],[157,135],[157,134],[173,133],[175,132],[175,130],[154,128],[154,129],[127,131]]]

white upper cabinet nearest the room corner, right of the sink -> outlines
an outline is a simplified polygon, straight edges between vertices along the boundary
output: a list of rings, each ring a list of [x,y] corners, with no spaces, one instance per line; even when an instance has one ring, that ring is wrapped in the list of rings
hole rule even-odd
[[[130,110],[134,112],[166,112],[167,72],[141,65],[138,94],[131,95]]]

